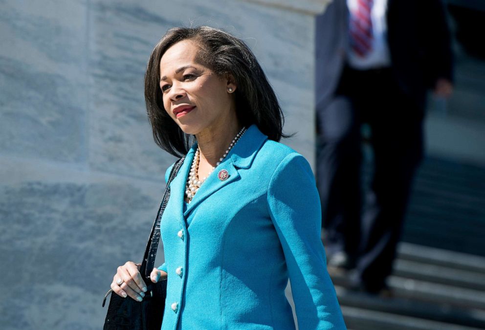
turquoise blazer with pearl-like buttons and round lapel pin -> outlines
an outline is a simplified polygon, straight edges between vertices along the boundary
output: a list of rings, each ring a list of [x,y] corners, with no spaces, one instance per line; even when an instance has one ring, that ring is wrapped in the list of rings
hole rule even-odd
[[[159,269],[168,273],[162,330],[294,330],[288,278],[300,330],[346,329],[307,160],[252,125],[184,211],[196,149],[170,184],[160,225]]]

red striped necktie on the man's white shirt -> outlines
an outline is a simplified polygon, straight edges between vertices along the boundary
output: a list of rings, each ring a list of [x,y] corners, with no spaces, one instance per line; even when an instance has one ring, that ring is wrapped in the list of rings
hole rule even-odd
[[[350,12],[350,44],[360,57],[372,49],[371,10],[373,0],[357,0],[357,6]]]

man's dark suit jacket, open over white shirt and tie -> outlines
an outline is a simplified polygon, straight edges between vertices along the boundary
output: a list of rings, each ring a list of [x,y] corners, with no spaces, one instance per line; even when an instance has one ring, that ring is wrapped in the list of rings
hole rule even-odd
[[[388,0],[391,66],[404,93],[419,108],[438,78],[453,80],[451,37],[441,0]],[[337,87],[349,47],[346,0],[333,0],[316,19],[316,104],[324,109]]]

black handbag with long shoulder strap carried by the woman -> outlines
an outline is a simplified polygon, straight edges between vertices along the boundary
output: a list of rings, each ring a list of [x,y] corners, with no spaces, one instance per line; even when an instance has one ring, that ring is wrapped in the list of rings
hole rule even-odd
[[[153,283],[150,279],[150,273],[155,264],[156,250],[160,240],[160,220],[170,198],[169,185],[177,175],[183,160],[184,157],[177,160],[170,172],[167,187],[158,208],[140,267],[140,274],[147,285],[145,297],[142,302],[138,302],[130,297],[123,298],[117,294],[111,294],[103,330],[160,330],[162,326],[165,297],[167,296],[167,280]],[[103,307],[105,306],[106,298],[112,291],[110,289],[106,293],[103,299]]]

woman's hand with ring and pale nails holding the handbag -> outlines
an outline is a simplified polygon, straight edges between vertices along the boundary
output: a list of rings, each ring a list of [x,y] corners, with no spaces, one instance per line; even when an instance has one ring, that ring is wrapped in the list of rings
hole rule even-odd
[[[111,283],[113,292],[123,298],[129,296],[134,300],[142,301],[143,297],[145,297],[147,286],[141,277],[140,266],[141,264],[135,264],[131,261],[119,266]],[[150,279],[153,283],[157,283],[164,278],[167,278],[167,273],[163,270],[154,268],[150,274]]]

